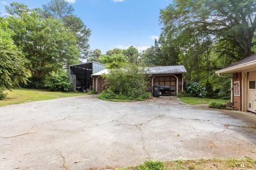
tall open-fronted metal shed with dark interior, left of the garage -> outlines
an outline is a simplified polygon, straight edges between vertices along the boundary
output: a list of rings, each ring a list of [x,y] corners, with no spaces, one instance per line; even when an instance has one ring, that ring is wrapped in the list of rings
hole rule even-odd
[[[81,63],[69,66],[69,78],[74,90],[84,91],[92,88],[91,75],[105,69],[105,65],[97,62]]]

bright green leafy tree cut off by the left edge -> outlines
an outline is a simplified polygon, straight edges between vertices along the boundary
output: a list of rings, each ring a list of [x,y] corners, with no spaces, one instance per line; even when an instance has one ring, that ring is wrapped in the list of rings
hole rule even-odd
[[[0,100],[6,96],[5,89],[26,83],[30,72],[26,67],[28,61],[22,52],[13,45],[13,32],[6,19],[0,18]]]

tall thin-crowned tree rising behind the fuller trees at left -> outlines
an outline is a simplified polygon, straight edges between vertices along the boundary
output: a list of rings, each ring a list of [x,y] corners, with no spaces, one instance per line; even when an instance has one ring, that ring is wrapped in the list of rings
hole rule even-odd
[[[86,27],[80,18],[74,15],[73,6],[64,0],[51,0],[50,3],[43,5],[43,10],[47,17],[61,19],[63,24],[74,32],[79,57],[81,59],[89,57],[90,46],[88,42],[91,30]]]

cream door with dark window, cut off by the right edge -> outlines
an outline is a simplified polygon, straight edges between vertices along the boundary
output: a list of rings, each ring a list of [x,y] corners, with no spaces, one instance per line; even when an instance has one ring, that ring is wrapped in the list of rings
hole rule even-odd
[[[248,77],[248,111],[256,113],[256,71],[249,72]]]

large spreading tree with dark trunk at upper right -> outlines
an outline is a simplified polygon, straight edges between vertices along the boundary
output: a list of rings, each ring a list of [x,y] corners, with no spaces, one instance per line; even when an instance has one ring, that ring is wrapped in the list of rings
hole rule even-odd
[[[256,29],[254,0],[175,0],[161,10],[161,21],[165,37],[184,36],[187,30],[201,40],[211,35],[215,43],[228,41],[239,47],[242,58],[250,56],[256,45],[252,41]]]

